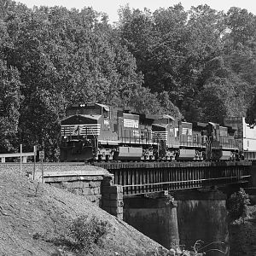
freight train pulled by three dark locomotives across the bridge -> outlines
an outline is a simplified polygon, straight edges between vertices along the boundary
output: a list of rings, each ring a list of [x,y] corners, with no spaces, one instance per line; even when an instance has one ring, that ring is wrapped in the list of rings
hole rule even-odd
[[[243,159],[256,159],[256,129],[244,118],[189,123],[90,103],[61,121],[61,161]]]

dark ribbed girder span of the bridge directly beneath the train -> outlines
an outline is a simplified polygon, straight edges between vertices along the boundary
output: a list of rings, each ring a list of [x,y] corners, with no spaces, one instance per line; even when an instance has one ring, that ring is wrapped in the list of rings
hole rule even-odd
[[[124,195],[248,183],[249,161],[94,163],[113,173]]]

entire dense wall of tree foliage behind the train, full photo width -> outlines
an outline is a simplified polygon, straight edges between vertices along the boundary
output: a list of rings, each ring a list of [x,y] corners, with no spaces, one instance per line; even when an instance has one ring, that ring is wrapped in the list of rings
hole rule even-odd
[[[256,18],[207,5],[125,6],[113,26],[90,8],[3,0],[0,75],[1,152],[38,144],[57,159],[60,121],[74,102],[218,123],[247,113],[254,124]]]

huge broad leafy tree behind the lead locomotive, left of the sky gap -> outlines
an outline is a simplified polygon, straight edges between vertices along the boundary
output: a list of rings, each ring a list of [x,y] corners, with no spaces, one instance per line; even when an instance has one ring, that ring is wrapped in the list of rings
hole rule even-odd
[[[2,30],[4,42],[11,44],[0,50],[7,67],[19,71],[23,84],[20,143],[25,149],[41,144],[51,160],[57,157],[67,105],[102,102],[124,107],[130,99],[122,91],[129,88],[130,94],[136,93],[127,85],[141,88],[143,76],[134,57],[120,44],[108,17],[93,9],[26,9],[14,4],[5,12]]]

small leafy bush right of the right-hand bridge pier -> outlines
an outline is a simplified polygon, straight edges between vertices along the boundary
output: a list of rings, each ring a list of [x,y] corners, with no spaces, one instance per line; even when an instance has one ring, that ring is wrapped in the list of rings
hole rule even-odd
[[[244,189],[240,189],[238,192],[232,194],[227,201],[230,220],[235,221],[239,218],[244,220],[247,216],[247,206],[249,204],[249,195],[247,195]]]

